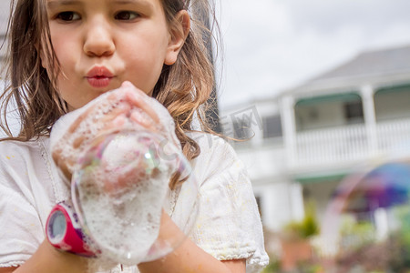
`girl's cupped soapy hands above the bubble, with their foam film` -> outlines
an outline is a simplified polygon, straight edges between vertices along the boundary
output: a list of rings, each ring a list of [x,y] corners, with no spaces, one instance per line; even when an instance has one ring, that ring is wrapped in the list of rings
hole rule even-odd
[[[51,151],[56,166],[71,180],[81,152],[97,136],[125,128],[141,127],[158,133],[180,147],[168,110],[129,82],[118,89],[62,116],[51,132]]]

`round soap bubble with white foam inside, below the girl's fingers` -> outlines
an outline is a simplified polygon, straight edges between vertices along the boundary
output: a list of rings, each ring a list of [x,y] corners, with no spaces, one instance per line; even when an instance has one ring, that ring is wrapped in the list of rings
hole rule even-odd
[[[190,221],[181,224],[186,233],[159,238],[169,178],[177,173],[197,191],[188,160],[161,139],[143,130],[98,136],[79,157],[72,178],[73,203],[98,257],[137,265],[168,254],[189,233],[187,225],[193,224],[198,210],[194,201],[185,208],[190,210]]]

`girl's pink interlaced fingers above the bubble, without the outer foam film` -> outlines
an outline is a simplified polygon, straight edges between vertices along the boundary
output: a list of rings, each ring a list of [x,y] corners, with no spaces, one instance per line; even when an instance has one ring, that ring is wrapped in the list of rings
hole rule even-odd
[[[75,115],[66,133],[58,140],[62,146],[58,145],[60,150],[53,153],[58,166],[64,169],[68,177],[87,142],[104,133],[137,124],[149,131],[166,134],[168,119],[159,120],[156,111],[160,109],[156,103],[159,104],[129,82],[124,82],[117,90],[98,96],[82,110],[77,110],[81,112]]]

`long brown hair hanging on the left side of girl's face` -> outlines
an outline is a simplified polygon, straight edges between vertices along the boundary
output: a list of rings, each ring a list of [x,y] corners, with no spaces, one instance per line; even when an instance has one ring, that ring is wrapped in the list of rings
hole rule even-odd
[[[27,141],[36,136],[47,135],[51,126],[60,116],[67,113],[66,104],[59,98],[56,76],[49,78],[41,66],[40,52],[50,61],[56,55],[51,45],[45,0],[11,1],[8,34],[8,56],[6,58],[5,80],[7,87],[0,96],[5,122],[1,127],[5,139]],[[7,123],[10,104],[15,103],[15,111],[20,120],[18,136],[12,136]]]

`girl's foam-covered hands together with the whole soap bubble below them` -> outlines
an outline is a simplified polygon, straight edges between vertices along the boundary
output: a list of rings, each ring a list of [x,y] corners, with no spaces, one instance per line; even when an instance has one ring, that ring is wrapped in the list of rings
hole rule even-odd
[[[50,134],[59,176],[71,183],[73,205],[97,253],[90,259],[95,271],[167,255],[189,235],[199,209],[198,185],[181,153],[173,118],[156,99],[137,93],[122,85],[98,96],[61,116]],[[147,104],[160,122],[133,100]],[[169,179],[176,175],[184,183],[170,190]],[[162,211],[182,234],[159,237],[159,230],[169,229],[161,223]]]

